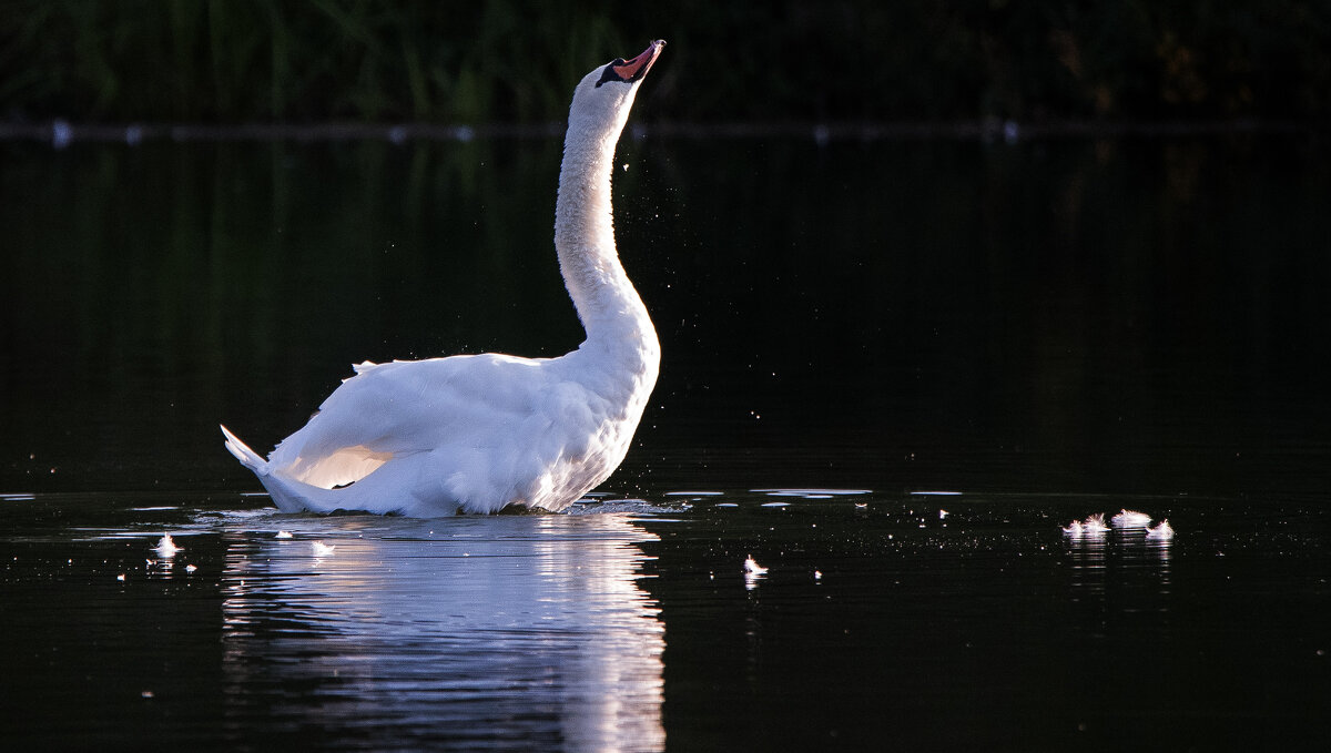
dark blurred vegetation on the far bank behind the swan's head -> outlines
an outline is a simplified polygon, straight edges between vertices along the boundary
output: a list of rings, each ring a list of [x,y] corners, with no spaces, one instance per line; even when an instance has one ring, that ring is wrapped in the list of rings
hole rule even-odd
[[[0,118],[548,122],[652,37],[648,120],[1331,114],[1326,0],[8,0]]]

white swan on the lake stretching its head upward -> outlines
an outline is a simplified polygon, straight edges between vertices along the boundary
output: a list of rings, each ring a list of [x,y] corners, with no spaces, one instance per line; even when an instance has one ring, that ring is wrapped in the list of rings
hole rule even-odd
[[[568,109],[555,251],[586,341],[559,358],[361,363],[266,460],[222,426],[226,450],[280,510],[558,512],[610,478],[660,367],[656,330],[615,249],[610,178],[638,86],[664,45],[587,73]]]

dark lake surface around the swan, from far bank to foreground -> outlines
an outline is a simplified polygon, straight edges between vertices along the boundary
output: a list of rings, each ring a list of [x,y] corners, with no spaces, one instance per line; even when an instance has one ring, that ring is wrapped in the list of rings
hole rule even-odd
[[[217,423],[575,347],[558,141],[0,150],[7,748],[1331,744],[1319,138],[628,137],[635,448],[447,520],[278,515]],[[1062,531],[1122,508],[1177,536]]]

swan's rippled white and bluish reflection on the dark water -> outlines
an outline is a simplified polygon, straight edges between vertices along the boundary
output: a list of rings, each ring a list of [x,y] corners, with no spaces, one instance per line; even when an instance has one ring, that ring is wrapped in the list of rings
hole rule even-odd
[[[294,537],[228,548],[237,725],[260,714],[407,746],[664,746],[664,627],[636,583],[636,544],[654,536],[627,516],[278,523]],[[334,552],[315,557],[315,537]]]

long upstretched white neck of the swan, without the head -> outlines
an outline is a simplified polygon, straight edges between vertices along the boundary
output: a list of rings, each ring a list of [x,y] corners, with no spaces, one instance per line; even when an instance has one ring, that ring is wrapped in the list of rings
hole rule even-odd
[[[644,358],[655,378],[660,358],[656,331],[619,262],[611,217],[610,177],[627,110],[608,122],[570,114],[555,202],[555,250],[587,330],[583,349],[594,346],[620,359]]]

